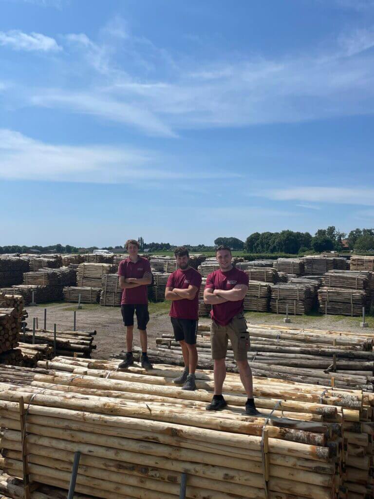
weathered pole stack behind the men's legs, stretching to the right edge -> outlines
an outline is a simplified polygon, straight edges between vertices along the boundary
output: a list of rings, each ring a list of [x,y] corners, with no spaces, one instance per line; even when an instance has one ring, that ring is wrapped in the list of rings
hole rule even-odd
[[[200,324],[197,334],[198,363],[211,368],[209,326]],[[373,391],[374,334],[320,330],[288,330],[280,326],[250,324],[249,365],[256,376],[275,376],[290,382],[359,386]],[[156,339],[157,350],[149,350],[152,362],[182,365],[181,347],[170,333]],[[227,352],[228,368],[237,371],[232,347]]]

